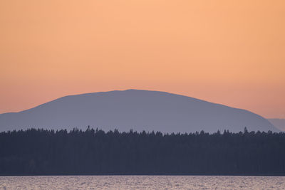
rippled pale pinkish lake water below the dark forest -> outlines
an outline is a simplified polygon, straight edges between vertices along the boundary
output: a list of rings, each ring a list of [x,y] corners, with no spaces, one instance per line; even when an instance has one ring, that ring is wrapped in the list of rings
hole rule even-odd
[[[285,189],[285,176],[0,176],[0,189]]]

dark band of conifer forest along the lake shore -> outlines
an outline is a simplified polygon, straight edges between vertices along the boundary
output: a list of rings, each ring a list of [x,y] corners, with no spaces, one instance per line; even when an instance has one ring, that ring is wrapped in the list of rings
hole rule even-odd
[[[0,174],[284,175],[285,133],[0,133]]]

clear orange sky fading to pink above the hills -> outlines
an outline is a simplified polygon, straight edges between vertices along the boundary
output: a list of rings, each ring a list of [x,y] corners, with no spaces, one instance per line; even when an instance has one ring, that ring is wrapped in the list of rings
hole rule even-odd
[[[284,0],[1,0],[0,113],[135,88],[285,117],[284,10]]]

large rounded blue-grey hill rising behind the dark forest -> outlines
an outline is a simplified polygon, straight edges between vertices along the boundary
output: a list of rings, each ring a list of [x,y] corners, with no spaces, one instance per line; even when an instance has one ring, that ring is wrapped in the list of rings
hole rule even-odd
[[[148,90],[123,90],[68,95],[22,112],[0,115],[0,130],[31,127],[67,129],[86,127],[119,131],[217,132],[229,130],[279,131],[247,110],[193,97]]]

